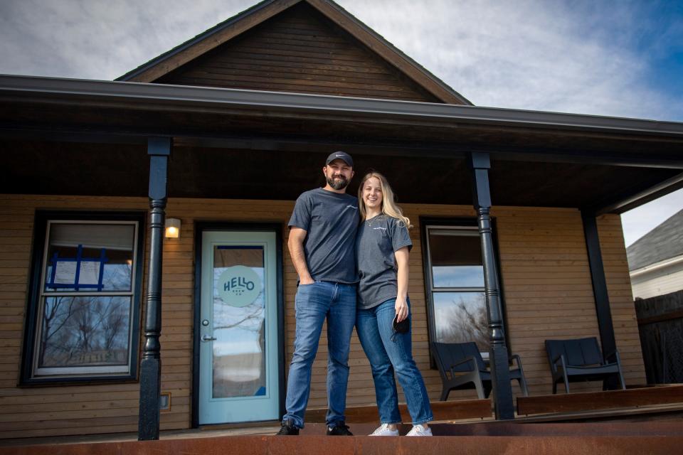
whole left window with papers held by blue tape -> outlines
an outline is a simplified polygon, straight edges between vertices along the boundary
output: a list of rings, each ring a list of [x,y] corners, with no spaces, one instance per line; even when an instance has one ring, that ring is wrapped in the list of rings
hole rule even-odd
[[[142,223],[36,215],[23,382],[136,377]]]

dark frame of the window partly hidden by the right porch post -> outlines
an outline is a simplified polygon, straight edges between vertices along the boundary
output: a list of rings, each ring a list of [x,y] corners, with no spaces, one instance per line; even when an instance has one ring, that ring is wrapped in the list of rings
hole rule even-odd
[[[496,257],[496,272],[498,276],[498,289],[500,296],[500,304],[502,309],[502,323],[503,323],[503,333],[505,336],[505,343],[509,351],[509,338],[507,333],[507,312],[505,310],[504,292],[502,277],[500,273],[500,254],[498,249],[498,238],[497,238],[497,226],[496,220],[492,217],[492,237],[493,237],[493,247]],[[427,306],[427,338],[429,341],[430,350],[430,368],[435,369],[436,364],[434,362],[432,354],[432,343],[435,342],[436,334],[436,324],[434,321],[434,298],[433,292],[435,292],[433,287],[433,276],[432,276],[432,266],[431,257],[429,251],[429,232],[428,228],[452,228],[460,230],[473,230],[477,232],[477,237],[479,235],[479,228],[477,223],[477,218],[470,217],[454,217],[454,218],[431,218],[431,217],[420,217],[420,241],[422,242],[422,264],[423,264],[423,277],[425,284],[425,304]],[[482,259],[483,262],[483,259]],[[462,287],[462,288],[438,288],[438,291],[455,291],[455,292],[485,292],[485,287]],[[488,313],[488,311],[487,311]]]

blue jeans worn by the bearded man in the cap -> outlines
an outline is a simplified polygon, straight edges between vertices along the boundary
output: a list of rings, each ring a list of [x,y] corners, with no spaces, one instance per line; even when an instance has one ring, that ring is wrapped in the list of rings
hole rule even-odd
[[[344,421],[349,382],[349,348],[356,322],[356,284],[302,284],[295,299],[296,336],[287,378],[287,414],[282,420],[304,427],[311,390],[311,367],[318,351],[322,323],[327,318],[327,424]]]

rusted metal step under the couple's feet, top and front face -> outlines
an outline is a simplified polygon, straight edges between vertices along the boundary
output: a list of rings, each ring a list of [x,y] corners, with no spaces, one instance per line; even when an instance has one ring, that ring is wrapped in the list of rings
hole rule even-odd
[[[351,426],[366,434],[372,424]],[[0,455],[62,454],[672,454],[683,446],[682,422],[591,424],[434,424],[434,437],[326,437],[310,424],[298,437],[233,436],[0,447]],[[408,425],[401,428],[402,434]],[[437,436],[437,435],[442,436]],[[450,436],[447,436],[450,435]]]

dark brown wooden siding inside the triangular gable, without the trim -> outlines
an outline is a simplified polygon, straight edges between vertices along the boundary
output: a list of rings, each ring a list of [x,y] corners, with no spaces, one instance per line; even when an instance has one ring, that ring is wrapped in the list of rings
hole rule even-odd
[[[440,102],[305,3],[154,82]]]

